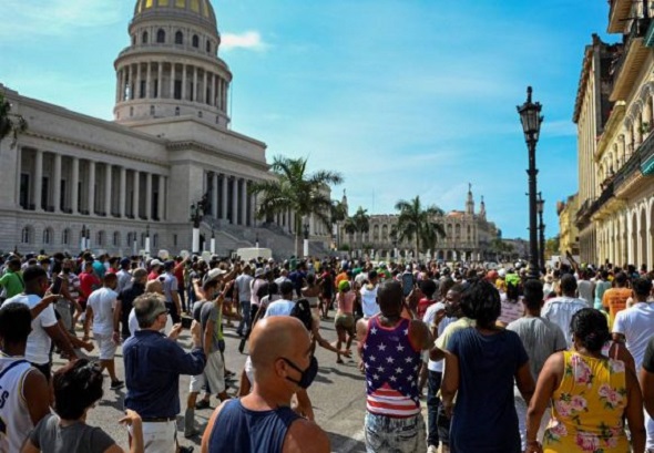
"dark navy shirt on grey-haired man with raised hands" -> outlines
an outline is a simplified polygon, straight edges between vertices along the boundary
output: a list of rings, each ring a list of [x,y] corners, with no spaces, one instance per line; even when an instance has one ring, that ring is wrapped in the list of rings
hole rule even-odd
[[[202,348],[185,352],[175,341],[153,330],[139,330],[123,346],[125,408],[141,418],[180,413],[180,374],[201,374],[206,357]]]

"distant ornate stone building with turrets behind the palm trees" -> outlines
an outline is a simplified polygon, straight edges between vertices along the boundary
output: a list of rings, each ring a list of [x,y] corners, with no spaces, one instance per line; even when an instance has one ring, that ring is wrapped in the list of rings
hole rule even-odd
[[[347,206],[345,196],[343,203]],[[420,250],[420,254],[423,254],[422,257],[446,261],[479,261],[494,257],[491,247],[499,231],[495,224],[487,220],[486,215],[483,197],[479,212],[474,212],[474,198],[470,188],[464,210],[451,210],[442,217],[435,218],[436,223],[443,226],[446,237],[438,238],[433,250]],[[416,245],[394,238],[391,231],[395,230],[397,222],[397,214],[371,215],[368,231],[355,234],[348,234],[344,226],[339,225],[340,244],[347,245],[349,250],[374,253],[376,257],[410,257]]]

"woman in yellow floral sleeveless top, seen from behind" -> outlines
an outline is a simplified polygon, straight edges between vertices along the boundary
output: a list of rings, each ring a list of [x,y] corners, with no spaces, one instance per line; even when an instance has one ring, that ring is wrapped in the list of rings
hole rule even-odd
[[[606,317],[584,308],[572,317],[570,327],[574,350],[552,354],[539,375],[527,413],[525,453],[644,452],[643,401],[636,375],[623,361],[602,354],[611,338]],[[550,401],[552,420],[541,445],[537,433]]]

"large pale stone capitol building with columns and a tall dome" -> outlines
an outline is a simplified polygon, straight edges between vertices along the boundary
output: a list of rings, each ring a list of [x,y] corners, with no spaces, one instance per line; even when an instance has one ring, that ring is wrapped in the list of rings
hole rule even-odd
[[[0,91],[28,130],[0,142],[0,250],[127,255],[191,249],[191,206],[206,200],[201,248],[293,250],[292,213],[255,216],[248,187],[275,177],[266,145],[232,130],[233,74],[210,0],[137,0],[114,62],[114,121]],[[0,81],[1,82],[1,81]],[[311,253],[329,228],[309,220]]]

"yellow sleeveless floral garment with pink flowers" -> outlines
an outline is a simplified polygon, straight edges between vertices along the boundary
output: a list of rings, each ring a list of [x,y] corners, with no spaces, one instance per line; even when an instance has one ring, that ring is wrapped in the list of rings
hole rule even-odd
[[[620,360],[563,352],[565,370],[552,395],[544,453],[626,453],[626,377]]]

